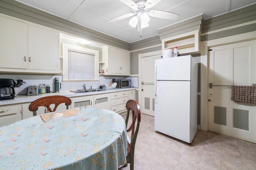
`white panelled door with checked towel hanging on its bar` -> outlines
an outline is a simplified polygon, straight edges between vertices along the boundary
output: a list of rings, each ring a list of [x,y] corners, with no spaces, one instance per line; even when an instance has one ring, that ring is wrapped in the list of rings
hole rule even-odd
[[[256,143],[256,105],[231,100],[232,85],[256,84],[256,40],[210,50],[208,129]]]

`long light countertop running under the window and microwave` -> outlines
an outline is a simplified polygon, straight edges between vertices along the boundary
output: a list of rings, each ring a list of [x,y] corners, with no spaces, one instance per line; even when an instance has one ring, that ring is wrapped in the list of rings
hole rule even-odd
[[[98,91],[98,92],[74,93],[74,92],[70,92],[70,91],[65,91],[65,92],[58,92],[58,93],[38,94],[38,95],[33,95],[33,96],[18,95],[16,97],[14,97],[14,99],[11,99],[11,100],[0,100],[0,106],[9,105],[9,104],[22,104],[22,103],[33,102],[34,100],[36,100],[38,98],[45,97],[45,96],[60,95],[60,96],[66,96],[68,98],[74,98],[74,97],[80,97],[80,96],[90,96],[90,95],[97,95],[97,94],[104,94],[104,93],[121,92],[121,91],[126,91],[126,90],[135,90],[135,89],[136,88],[116,88],[116,89],[109,89],[106,91]]]

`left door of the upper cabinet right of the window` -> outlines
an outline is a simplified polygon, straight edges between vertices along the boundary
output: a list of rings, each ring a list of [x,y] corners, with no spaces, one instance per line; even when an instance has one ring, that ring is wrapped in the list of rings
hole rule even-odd
[[[120,65],[120,49],[115,49],[108,47],[108,73],[120,73],[121,65]]]

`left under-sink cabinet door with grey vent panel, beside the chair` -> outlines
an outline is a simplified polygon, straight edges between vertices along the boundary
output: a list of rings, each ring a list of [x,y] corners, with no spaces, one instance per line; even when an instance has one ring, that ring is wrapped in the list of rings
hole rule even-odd
[[[82,96],[71,98],[71,108],[74,109],[76,107],[94,107],[94,96]]]

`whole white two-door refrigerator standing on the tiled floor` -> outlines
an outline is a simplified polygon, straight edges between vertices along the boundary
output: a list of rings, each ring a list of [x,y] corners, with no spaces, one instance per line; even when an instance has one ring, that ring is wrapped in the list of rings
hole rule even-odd
[[[197,132],[198,62],[191,55],[155,62],[155,130],[192,143]]]

